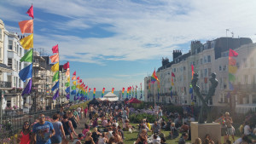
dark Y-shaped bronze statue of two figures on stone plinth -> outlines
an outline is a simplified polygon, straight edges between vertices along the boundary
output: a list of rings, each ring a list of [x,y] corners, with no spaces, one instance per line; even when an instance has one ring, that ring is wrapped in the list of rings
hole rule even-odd
[[[198,124],[205,123],[204,118],[202,118],[203,112],[207,112],[207,123],[209,124],[209,123],[212,123],[212,115],[211,115],[211,107],[208,106],[208,100],[214,95],[216,87],[218,86],[218,80],[216,78],[216,73],[212,73],[212,78],[210,78],[211,86],[210,86],[210,89],[208,91],[206,98],[204,98],[201,95],[200,88],[197,85],[197,81],[198,81],[198,74],[195,73],[191,84],[192,84],[192,88],[193,88],[195,94],[198,96],[198,98],[202,102],[202,106],[201,106],[201,110],[200,110],[200,114],[199,114],[199,118],[198,118]]]

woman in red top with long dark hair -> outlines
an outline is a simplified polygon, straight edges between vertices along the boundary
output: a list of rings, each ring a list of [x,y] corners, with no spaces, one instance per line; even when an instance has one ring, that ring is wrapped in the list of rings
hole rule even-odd
[[[18,143],[20,144],[30,144],[31,141],[31,130],[28,121],[24,122],[20,135],[18,136]]]

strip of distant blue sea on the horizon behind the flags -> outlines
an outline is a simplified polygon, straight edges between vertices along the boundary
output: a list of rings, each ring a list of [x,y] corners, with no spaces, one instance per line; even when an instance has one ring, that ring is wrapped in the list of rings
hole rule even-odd
[[[105,91],[104,95],[108,94],[108,92],[111,92],[111,91]],[[95,95],[96,98],[101,98],[101,97],[102,97],[102,91],[96,91],[95,94],[96,94],[96,95]],[[119,97],[119,91],[113,91],[113,94],[114,94],[114,95],[117,95],[117,96]],[[121,95],[121,94],[122,94],[122,91],[120,91],[120,95]],[[74,96],[74,95],[70,95],[70,100],[71,100],[71,101],[73,101],[73,96]],[[131,94],[131,97],[132,97],[132,94]],[[134,92],[133,97],[135,97],[135,92]],[[144,90],[143,90],[143,97],[142,97],[142,99],[140,99],[140,97],[141,97],[141,91],[137,91],[137,99],[138,99],[138,100],[141,100],[141,101],[144,101]],[[90,91],[88,98],[89,98],[90,100],[93,99],[93,91]],[[126,99],[126,91],[125,91],[125,93],[124,93],[124,99]]]

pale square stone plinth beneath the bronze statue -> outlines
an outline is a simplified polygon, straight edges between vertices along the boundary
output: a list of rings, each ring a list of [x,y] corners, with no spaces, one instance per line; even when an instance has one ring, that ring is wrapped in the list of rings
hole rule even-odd
[[[191,122],[191,142],[195,142],[197,137],[201,138],[201,141],[205,139],[205,136],[209,134],[214,143],[221,142],[221,125],[218,123],[211,124],[198,124],[197,122]]]

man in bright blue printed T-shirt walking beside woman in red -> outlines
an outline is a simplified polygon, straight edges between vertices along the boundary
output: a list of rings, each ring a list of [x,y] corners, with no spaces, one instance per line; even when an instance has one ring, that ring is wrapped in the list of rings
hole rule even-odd
[[[50,137],[52,135],[55,135],[53,125],[50,122],[45,121],[44,114],[40,114],[39,122],[33,126],[32,144],[50,144]]]

